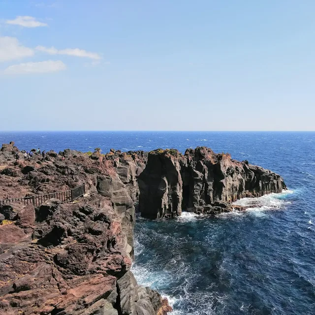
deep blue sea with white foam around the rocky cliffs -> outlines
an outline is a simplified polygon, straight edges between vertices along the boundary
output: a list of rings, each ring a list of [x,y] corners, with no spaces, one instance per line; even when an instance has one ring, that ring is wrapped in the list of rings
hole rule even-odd
[[[20,149],[208,146],[281,174],[289,190],[244,213],[137,221],[133,272],[173,314],[315,314],[315,132],[6,132]]]

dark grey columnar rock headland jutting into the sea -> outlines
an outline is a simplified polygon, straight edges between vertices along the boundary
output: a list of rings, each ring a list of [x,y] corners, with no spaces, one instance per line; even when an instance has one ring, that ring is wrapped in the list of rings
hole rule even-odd
[[[139,179],[139,211],[156,219],[181,215],[182,209],[196,213],[231,211],[231,203],[286,189],[282,177],[267,169],[215,154],[206,147],[156,150]]]

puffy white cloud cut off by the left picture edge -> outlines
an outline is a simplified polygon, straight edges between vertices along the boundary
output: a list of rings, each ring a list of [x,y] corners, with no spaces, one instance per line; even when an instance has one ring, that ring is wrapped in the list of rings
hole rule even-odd
[[[0,37],[0,62],[31,57],[34,51],[31,48],[22,46],[15,37]]]

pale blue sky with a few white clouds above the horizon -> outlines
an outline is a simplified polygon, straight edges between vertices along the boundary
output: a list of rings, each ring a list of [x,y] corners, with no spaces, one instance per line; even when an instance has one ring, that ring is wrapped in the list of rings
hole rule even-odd
[[[314,0],[0,0],[0,130],[315,130]]]

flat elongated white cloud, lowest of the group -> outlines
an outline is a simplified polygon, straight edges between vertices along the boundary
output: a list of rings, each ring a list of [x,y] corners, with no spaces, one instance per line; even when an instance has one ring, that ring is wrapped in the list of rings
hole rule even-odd
[[[27,73],[48,73],[65,70],[66,65],[58,61],[42,61],[38,63],[20,63],[7,67],[4,74],[27,74]]]

